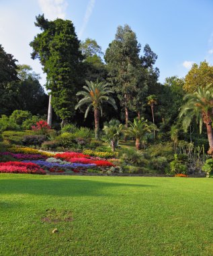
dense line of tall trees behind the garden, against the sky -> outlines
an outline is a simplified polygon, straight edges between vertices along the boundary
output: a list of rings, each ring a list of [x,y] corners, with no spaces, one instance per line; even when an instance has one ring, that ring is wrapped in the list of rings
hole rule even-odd
[[[70,20],[49,21],[44,15],[38,15],[35,26],[41,32],[30,42],[32,59],[40,60],[47,75],[45,86],[52,97],[55,123],[103,127],[105,121],[114,118],[127,127],[128,121],[144,117],[157,125],[157,138],[162,141],[170,139],[171,129],[177,131],[181,139],[198,139],[196,119],[192,120],[188,135],[181,129],[178,117],[185,93],[194,92],[198,85],[204,87],[212,83],[213,70],[206,61],[200,66],[194,64],[185,79],[171,76],[161,84],[159,69],[155,67],[157,54],[148,44],[142,48],[128,25],[118,26],[105,53],[94,39],[81,42]],[[15,109],[28,110],[32,115],[47,114],[48,95],[39,78],[28,65],[17,65],[13,55],[5,53],[0,46],[0,114],[10,115]],[[110,86],[110,97],[117,106],[114,110],[108,100],[103,100],[102,117],[96,111],[98,123],[97,119],[96,123],[91,121],[94,120],[93,113],[89,112],[87,104],[77,105],[79,100],[84,102],[77,92],[86,86],[86,80],[91,84],[103,82]],[[87,90],[87,101],[97,90]],[[86,97],[84,92],[82,95]],[[89,109],[96,109],[94,104],[91,101]],[[76,110],[75,106],[78,106]]]

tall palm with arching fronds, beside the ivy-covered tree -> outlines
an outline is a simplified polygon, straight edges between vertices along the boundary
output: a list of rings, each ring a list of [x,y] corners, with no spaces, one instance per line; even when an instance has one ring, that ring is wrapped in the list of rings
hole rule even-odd
[[[115,109],[117,109],[114,98],[110,96],[113,93],[108,83],[105,82],[89,82],[86,80],[87,86],[83,86],[85,91],[77,92],[76,95],[83,95],[84,97],[79,100],[79,103],[75,106],[75,109],[79,108],[83,104],[87,104],[87,110],[85,111],[85,118],[87,117],[89,110],[93,108],[95,119],[95,139],[99,139],[99,119],[102,115],[103,102],[108,102]]]

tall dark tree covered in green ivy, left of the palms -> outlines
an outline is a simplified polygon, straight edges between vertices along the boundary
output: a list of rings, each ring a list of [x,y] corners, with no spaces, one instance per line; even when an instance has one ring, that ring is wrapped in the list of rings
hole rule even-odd
[[[75,94],[79,90],[79,63],[83,59],[80,41],[70,20],[48,21],[44,15],[38,15],[35,25],[42,32],[30,42],[32,59],[39,59],[43,65],[52,107],[66,121],[74,115]]]

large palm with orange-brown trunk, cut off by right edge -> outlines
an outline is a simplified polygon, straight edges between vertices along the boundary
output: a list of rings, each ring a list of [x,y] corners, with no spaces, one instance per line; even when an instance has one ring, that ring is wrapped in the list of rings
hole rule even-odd
[[[213,134],[212,134],[212,108],[213,108],[213,88],[212,84],[202,88],[198,87],[196,92],[187,94],[183,98],[185,104],[181,106],[179,118],[183,118],[183,129],[187,131],[191,121],[196,117],[200,124],[200,133],[202,133],[203,123],[206,125],[208,143],[210,149],[208,154],[213,154]]]

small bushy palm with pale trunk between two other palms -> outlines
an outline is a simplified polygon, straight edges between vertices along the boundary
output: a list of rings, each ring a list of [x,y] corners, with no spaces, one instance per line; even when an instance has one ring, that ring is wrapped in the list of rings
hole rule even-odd
[[[103,131],[105,132],[107,141],[110,141],[111,143],[112,152],[116,149],[116,145],[118,144],[118,139],[120,138],[123,128],[124,125],[116,119],[110,120],[109,123],[105,123],[103,126]]]

